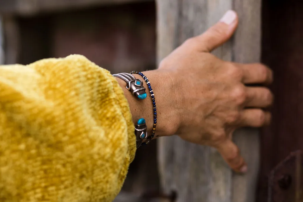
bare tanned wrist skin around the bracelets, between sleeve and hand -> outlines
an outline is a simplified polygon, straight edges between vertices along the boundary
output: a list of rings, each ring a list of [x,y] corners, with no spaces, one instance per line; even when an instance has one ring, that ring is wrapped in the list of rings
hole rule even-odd
[[[174,85],[171,82],[171,75],[161,70],[144,71],[142,73],[150,81],[151,88],[155,94],[155,103],[158,115],[155,137],[174,134],[177,130],[179,121],[176,111],[172,110],[172,108],[174,108],[174,98],[171,95],[175,90]],[[134,74],[134,76],[135,78],[144,81],[140,75]],[[128,100],[134,124],[137,123],[139,118],[144,118],[146,120],[148,133],[151,134],[151,130],[154,127],[154,111],[147,84],[143,82],[143,85],[146,88],[147,98],[140,100],[125,88],[126,84],[123,80],[119,78],[116,79]]]

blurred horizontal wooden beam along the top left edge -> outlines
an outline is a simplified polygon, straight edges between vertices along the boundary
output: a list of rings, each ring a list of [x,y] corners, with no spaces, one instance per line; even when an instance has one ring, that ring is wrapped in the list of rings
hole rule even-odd
[[[96,5],[151,2],[153,0],[1,0],[1,14],[34,15],[72,8],[85,8]]]

